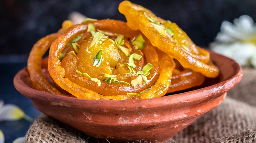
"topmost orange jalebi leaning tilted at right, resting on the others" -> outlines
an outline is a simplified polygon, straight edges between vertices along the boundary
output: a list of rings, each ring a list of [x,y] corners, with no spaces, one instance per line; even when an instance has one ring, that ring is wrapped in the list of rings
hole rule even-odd
[[[215,78],[219,69],[209,60],[209,53],[197,47],[175,23],[165,21],[150,10],[123,1],[119,5],[127,25],[133,30],[140,30],[152,43],[169,56],[177,59],[184,68]]]

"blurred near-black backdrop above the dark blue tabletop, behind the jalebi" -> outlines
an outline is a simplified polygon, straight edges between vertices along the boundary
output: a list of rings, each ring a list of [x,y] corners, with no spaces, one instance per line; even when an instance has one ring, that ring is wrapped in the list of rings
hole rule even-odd
[[[0,55],[28,55],[40,38],[56,32],[72,11],[89,18],[125,21],[119,13],[121,0],[1,0]],[[199,46],[207,47],[222,21],[247,14],[256,19],[255,0],[140,0],[132,2],[157,16],[177,23]]]

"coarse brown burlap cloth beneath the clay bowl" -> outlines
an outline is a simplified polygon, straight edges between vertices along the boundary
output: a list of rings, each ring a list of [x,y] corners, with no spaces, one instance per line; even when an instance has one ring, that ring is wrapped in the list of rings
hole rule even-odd
[[[35,119],[25,140],[29,143],[96,142],[93,137],[44,114]],[[169,142],[256,143],[256,70],[244,69],[242,81],[228,92],[221,105],[197,119]]]

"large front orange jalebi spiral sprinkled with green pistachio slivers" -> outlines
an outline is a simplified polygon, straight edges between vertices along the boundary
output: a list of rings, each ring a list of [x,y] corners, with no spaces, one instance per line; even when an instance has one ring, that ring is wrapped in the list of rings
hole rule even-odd
[[[74,44],[77,50],[68,50],[60,61],[58,56],[65,45],[80,34],[81,43]],[[155,47],[143,35],[144,48],[133,48],[131,41],[140,34],[115,20],[74,25],[52,43],[49,73],[56,84],[77,98],[124,100],[163,96],[170,86],[175,62],[164,53],[158,57]],[[120,36],[123,38],[118,40]],[[146,72],[147,65],[151,67]]]

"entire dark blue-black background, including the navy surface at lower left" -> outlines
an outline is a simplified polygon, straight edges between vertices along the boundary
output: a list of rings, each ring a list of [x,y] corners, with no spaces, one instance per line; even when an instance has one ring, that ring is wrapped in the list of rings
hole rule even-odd
[[[0,0],[0,100],[18,105],[24,112],[36,118],[37,111],[30,99],[13,87],[12,79],[26,66],[33,44],[40,38],[56,32],[73,11],[89,18],[117,19],[125,21],[118,12],[121,0]],[[142,5],[157,16],[177,23],[188,36],[201,47],[207,48],[220,31],[222,21],[247,14],[256,20],[255,0],[141,0]],[[30,122],[4,121],[0,129],[6,142],[24,136]]]

